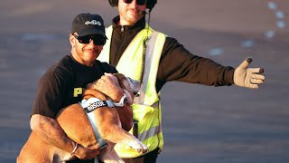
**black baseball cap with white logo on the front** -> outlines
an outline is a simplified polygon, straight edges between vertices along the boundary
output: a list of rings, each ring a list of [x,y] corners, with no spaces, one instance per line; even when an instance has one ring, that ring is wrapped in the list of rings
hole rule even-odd
[[[79,36],[99,34],[107,38],[103,19],[98,14],[78,14],[72,22],[71,34],[75,32]]]

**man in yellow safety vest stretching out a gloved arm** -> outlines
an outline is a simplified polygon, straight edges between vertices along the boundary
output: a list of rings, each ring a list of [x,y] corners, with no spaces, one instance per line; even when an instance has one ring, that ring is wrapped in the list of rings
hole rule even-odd
[[[265,81],[263,69],[248,68],[247,58],[236,69],[222,66],[186,50],[172,37],[154,31],[145,23],[146,9],[151,12],[156,0],[108,0],[119,15],[107,28],[107,43],[98,60],[108,62],[142,83],[133,105],[132,134],[150,149],[146,154],[117,145],[117,154],[126,162],[155,162],[163,149],[162,111],[159,92],[166,82],[178,81],[213,86],[232,84],[257,89]]]

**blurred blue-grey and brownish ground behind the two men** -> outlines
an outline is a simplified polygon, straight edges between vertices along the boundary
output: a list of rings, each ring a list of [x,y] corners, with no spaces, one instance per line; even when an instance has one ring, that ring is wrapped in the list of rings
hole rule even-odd
[[[285,0],[163,0],[152,26],[191,53],[238,66],[264,67],[259,90],[170,82],[163,87],[165,145],[158,162],[289,162],[289,3]],[[37,82],[70,52],[79,13],[117,14],[107,1],[1,1],[0,162],[15,162],[30,133]]]

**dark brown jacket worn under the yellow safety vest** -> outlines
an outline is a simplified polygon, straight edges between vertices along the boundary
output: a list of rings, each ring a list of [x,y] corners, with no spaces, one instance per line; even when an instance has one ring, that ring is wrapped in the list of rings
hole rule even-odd
[[[113,19],[113,34],[109,63],[117,66],[122,53],[135,35],[144,29],[143,18],[134,25],[117,25],[119,16]],[[172,37],[167,37],[157,72],[156,91],[160,91],[165,82],[178,81],[223,86],[233,84],[234,68],[224,67],[208,58],[190,53]]]

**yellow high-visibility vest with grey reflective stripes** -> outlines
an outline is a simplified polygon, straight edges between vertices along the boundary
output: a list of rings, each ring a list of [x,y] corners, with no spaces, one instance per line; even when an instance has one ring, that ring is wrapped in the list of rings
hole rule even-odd
[[[106,32],[108,41],[98,56],[101,62],[109,62],[112,31],[112,26],[109,26]],[[156,148],[163,149],[162,110],[159,94],[155,90],[155,82],[166,35],[155,32],[146,24],[145,28],[136,34],[134,40],[127,46],[117,63],[117,71],[137,81],[141,80],[143,42],[147,36],[142,87],[139,96],[135,97],[132,108],[134,120],[138,122],[137,139],[152,151]],[[129,131],[131,134],[133,134],[133,129]],[[123,144],[117,144],[115,149],[121,158],[136,158],[143,155]]]

